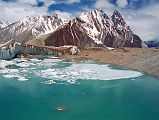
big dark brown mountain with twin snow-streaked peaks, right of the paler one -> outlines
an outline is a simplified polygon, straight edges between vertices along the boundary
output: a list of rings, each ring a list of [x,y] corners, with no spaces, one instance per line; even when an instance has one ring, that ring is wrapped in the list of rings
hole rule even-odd
[[[47,46],[77,45],[108,47],[142,47],[118,11],[109,18],[102,10],[82,13],[49,36]]]

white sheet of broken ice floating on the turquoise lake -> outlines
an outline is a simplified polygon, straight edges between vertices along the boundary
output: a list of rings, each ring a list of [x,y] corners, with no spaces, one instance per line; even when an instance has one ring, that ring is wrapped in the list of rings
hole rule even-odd
[[[33,60],[34,61],[34,60]],[[116,70],[104,64],[93,64],[88,62],[72,63],[69,62],[69,66],[63,66],[58,68],[57,66],[65,63],[59,62],[58,59],[44,59],[43,61],[34,63],[33,61],[26,61],[16,63],[13,61],[0,61],[2,66],[0,69],[0,75],[5,78],[17,78],[19,81],[28,80],[24,76],[42,77],[47,79],[54,79],[59,81],[67,81],[70,84],[74,84],[77,80],[116,80],[124,78],[136,78],[142,76],[142,73],[133,70]],[[39,64],[38,64],[39,63]],[[57,65],[54,68],[54,65]],[[17,65],[21,68],[8,69],[8,65]],[[36,66],[33,66],[36,65]],[[52,82],[48,82],[52,83]]]

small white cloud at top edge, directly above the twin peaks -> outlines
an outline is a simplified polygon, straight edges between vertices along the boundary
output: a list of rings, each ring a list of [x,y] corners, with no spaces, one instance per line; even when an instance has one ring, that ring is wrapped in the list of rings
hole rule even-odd
[[[111,4],[108,0],[96,0],[94,7],[98,9],[105,9],[112,8],[114,5]]]

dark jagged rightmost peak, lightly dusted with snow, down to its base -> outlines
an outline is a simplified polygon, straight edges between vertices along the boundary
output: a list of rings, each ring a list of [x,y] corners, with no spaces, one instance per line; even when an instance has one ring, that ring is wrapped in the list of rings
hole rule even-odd
[[[142,47],[142,40],[135,35],[118,11],[114,11],[112,21],[117,32],[114,47]]]

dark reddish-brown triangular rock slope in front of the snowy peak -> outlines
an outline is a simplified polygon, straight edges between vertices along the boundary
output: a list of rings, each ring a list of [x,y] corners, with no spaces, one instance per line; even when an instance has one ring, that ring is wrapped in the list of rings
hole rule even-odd
[[[51,36],[45,40],[46,46],[95,46],[96,43],[89,37],[81,26],[82,21],[74,19],[67,25],[56,30]]]

